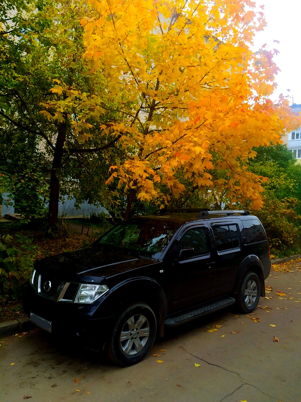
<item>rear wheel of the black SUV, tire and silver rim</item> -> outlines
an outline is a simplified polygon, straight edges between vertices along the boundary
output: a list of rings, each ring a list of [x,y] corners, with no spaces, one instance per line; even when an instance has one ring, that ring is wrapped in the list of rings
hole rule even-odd
[[[237,294],[237,306],[243,313],[251,313],[257,307],[260,297],[260,280],[256,273],[244,275]]]

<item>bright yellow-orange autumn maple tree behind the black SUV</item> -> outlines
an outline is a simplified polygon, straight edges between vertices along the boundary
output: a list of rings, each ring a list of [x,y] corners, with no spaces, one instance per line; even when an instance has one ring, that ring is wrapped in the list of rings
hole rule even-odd
[[[119,105],[117,122],[103,125],[102,134],[113,133],[126,156],[108,178],[129,192],[126,217],[135,196],[163,204],[179,197],[180,176],[230,203],[261,207],[262,178],[244,162],[253,147],[277,143],[300,124],[285,99],[274,105],[268,98],[273,53],[251,50],[265,25],[262,12],[250,0],[89,3],[84,57],[108,80],[100,103]]]

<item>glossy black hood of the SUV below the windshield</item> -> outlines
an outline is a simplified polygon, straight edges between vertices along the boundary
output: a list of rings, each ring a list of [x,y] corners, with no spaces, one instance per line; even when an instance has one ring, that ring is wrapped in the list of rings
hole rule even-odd
[[[154,263],[158,263],[158,260],[126,253],[120,249],[94,246],[43,258],[36,261],[35,269],[61,278],[66,275],[104,278]]]

